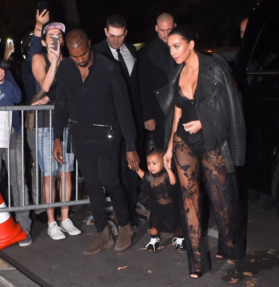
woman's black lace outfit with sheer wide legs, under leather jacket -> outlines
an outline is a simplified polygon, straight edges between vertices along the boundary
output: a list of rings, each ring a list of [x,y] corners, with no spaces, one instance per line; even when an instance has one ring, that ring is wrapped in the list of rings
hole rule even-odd
[[[239,215],[239,195],[235,172],[227,173],[221,150],[216,147],[206,152],[202,129],[190,134],[182,124],[198,120],[193,100],[186,98],[175,84],[175,105],[182,109],[173,138],[173,158],[184,200],[184,238],[189,272],[210,270],[208,250],[201,230],[200,189],[201,175],[213,205],[218,226],[218,254],[229,259],[243,259],[245,255]]]

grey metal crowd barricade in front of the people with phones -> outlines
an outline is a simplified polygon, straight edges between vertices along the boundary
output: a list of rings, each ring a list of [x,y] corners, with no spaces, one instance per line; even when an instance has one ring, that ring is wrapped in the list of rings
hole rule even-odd
[[[10,212],[10,211],[17,211],[17,210],[33,210],[33,209],[40,209],[40,208],[47,208],[47,207],[61,207],[61,206],[68,206],[68,205],[79,205],[79,204],[89,204],[89,199],[78,199],[78,163],[75,160],[75,200],[72,201],[65,201],[65,165],[63,167],[63,178],[59,179],[63,181],[63,191],[62,191],[62,201],[54,202],[54,203],[39,203],[39,204],[28,204],[24,202],[24,182],[25,182],[25,158],[24,158],[24,111],[35,111],[35,125],[38,124],[38,111],[47,110],[50,112],[50,130],[52,128],[52,110],[54,109],[53,105],[46,105],[46,106],[0,106],[0,111],[19,111],[21,112],[21,152],[22,152],[22,198],[23,202],[20,206],[11,206],[11,182],[10,182],[10,137],[9,133],[7,136],[7,143],[8,143],[8,158],[7,158],[7,172],[8,172],[8,204],[7,207],[1,207],[0,212]],[[7,113],[8,114],[8,113]],[[9,129],[9,116],[7,117],[7,130]],[[35,129],[36,136],[35,136],[35,147],[36,147],[36,202],[39,202],[39,165],[38,165],[38,130]],[[64,133],[65,138],[65,133]],[[63,157],[65,158],[66,146],[65,141],[63,142],[64,145],[64,154]],[[34,160],[34,159],[33,159]],[[52,170],[52,133],[50,133],[50,170]],[[52,201],[52,177],[50,176],[50,202]]]

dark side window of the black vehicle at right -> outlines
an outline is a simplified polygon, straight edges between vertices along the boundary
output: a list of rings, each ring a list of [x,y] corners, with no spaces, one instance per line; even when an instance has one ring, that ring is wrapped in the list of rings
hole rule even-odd
[[[276,11],[258,36],[247,66],[247,82],[255,89],[275,93],[279,83],[279,12]],[[278,91],[277,91],[278,94]]]

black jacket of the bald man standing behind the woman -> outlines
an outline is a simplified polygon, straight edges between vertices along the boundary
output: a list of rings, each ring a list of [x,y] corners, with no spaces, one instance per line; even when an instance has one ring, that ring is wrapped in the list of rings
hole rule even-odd
[[[144,122],[164,118],[154,91],[169,83],[168,74],[172,71],[169,56],[167,44],[159,37],[138,51],[138,80]],[[175,67],[176,63],[173,62]]]

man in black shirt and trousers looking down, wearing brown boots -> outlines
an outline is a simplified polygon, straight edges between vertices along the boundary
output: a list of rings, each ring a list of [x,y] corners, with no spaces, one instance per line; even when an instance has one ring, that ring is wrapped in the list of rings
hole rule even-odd
[[[128,164],[138,170],[139,163],[127,86],[118,63],[91,50],[91,42],[83,30],[70,31],[66,44],[70,57],[57,70],[53,155],[63,163],[60,140],[69,114],[73,152],[84,177],[98,232],[84,254],[96,254],[114,246],[103,187],[110,195],[119,224],[115,250],[122,251],[132,243],[134,231],[118,177],[121,132],[126,141]]]

